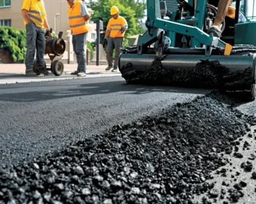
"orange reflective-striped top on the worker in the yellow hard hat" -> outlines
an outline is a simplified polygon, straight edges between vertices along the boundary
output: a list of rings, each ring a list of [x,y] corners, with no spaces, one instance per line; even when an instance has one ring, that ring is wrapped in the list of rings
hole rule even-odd
[[[106,25],[106,28],[110,30],[110,37],[111,38],[122,38],[124,36],[124,33],[121,33],[121,28],[127,25],[127,22],[124,17],[118,16],[117,19],[111,18],[108,22],[108,25]]]

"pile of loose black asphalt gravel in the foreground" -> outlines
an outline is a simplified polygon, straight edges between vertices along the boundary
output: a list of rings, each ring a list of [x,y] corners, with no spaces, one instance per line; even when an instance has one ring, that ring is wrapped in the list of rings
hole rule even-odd
[[[250,118],[251,123],[256,123]],[[228,163],[248,119],[212,97],[177,104],[153,117],[117,124],[33,162],[0,170],[0,203],[195,203],[218,194],[210,172]],[[241,168],[250,168],[245,163]],[[240,184],[242,185],[242,184]],[[204,203],[210,203],[204,197]]]

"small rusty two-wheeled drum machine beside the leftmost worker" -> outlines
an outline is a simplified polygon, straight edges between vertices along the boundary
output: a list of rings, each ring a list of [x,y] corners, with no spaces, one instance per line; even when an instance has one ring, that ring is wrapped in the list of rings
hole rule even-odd
[[[59,32],[57,38],[53,37],[52,30],[46,34],[45,54],[49,56],[51,64],[50,66],[47,66],[45,63],[45,66],[47,70],[52,71],[56,76],[61,75],[64,70],[64,65],[60,61],[66,49],[66,43],[65,40],[62,39],[62,34],[63,32]],[[37,69],[36,62],[34,62],[33,70],[37,75],[40,74],[40,71]]]

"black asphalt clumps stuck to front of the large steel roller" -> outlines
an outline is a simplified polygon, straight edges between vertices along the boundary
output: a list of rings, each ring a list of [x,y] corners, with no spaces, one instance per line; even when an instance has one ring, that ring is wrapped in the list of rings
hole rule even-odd
[[[201,61],[195,67],[164,67],[161,58],[150,67],[136,70],[142,83],[172,86],[218,88],[223,84],[223,75],[228,69],[218,61]]]

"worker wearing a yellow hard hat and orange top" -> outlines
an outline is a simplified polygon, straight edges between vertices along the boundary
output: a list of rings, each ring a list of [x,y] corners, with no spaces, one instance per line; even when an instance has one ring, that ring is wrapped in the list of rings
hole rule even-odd
[[[116,6],[112,6],[110,9],[110,15],[108,25],[106,26],[106,32],[104,36],[104,42],[106,45],[106,60],[108,61],[108,67],[106,71],[113,68],[112,71],[116,71],[118,68],[118,59],[122,48],[123,37],[125,31],[128,29],[127,22],[124,17],[119,15],[119,9]],[[103,43],[105,44],[105,43]],[[113,67],[113,51],[115,49],[115,60]]]

